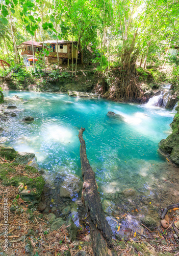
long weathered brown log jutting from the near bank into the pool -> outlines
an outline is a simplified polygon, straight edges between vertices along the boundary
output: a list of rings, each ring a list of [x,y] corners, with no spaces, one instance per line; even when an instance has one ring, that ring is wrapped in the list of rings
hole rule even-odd
[[[80,158],[83,176],[82,201],[87,210],[90,226],[93,253],[95,256],[117,255],[112,244],[112,230],[106,220],[103,206],[97,191],[95,174],[86,155],[86,144],[83,139],[85,128],[79,131]]]

